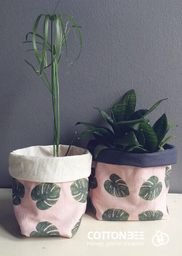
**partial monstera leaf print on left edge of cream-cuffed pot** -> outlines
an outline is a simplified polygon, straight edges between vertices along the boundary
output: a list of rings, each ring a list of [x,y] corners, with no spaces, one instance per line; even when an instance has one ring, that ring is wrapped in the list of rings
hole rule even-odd
[[[25,188],[24,185],[13,178],[13,184],[12,184],[12,193],[13,193],[13,204],[19,205],[21,203],[21,198],[25,195]]]

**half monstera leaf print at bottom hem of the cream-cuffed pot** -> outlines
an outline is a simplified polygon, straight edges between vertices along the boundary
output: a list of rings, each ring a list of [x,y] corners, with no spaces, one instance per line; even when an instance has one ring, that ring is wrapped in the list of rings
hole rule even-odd
[[[37,231],[32,231],[30,237],[38,236],[60,236],[56,226],[48,221],[39,222],[36,226]]]

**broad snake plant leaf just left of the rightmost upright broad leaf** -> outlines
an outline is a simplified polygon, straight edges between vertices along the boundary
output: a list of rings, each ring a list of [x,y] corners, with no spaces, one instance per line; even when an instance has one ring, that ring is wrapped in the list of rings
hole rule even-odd
[[[154,152],[157,148],[157,135],[150,124],[141,123],[140,129],[143,130],[145,136],[145,149]]]

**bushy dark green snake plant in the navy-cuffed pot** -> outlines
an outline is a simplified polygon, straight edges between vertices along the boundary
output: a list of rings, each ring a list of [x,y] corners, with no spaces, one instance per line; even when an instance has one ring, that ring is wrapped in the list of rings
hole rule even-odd
[[[167,98],[166,98],[167,99]],[[164,150],[163,146],[173,137],[164,139],[170,128],[177,126],[167,121],[163,114],[153,125],[145,117],[166,99],[161,99],[149,110],[139,109],[135,111],[136,94],[134,90],[126,94],[111,108],[111,117],[100,108],[95,108],[111,126],[112,130],[100,125],[85,122],[78,124],[86,125],[89,129],[84,131],[80,138],[92,134],[97,141],[94,148],[95,157],[105,149],[119,150],[131,153],[153,153]]]

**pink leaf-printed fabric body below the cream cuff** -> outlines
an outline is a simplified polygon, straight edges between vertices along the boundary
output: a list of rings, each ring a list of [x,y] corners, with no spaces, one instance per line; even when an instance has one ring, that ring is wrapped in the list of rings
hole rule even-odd
[[[88,178],[80,179],[76,183],[70,181],[53,185],[16,179],[13,179],[13,182],[15,190],[16,187],[20,188],[19,198],[16,191],[13,192],[13,207],[22,234],[25,236],[57,235],[69,238],[74,236],[86,210]],[[84,198],[79,197],[79,193],[74,191],[74,187],[77,187],[80,182],[87,185]],[[36,187],[37,185],[39,187]],[[71,186],[73,186],[72,190]],[[45,196],[45,200],[39,200],[38,208],[36,206],[38,200],[33,200],[32,197],[35,199],[39,193],[44,195],[47,193],[47,197]]]

